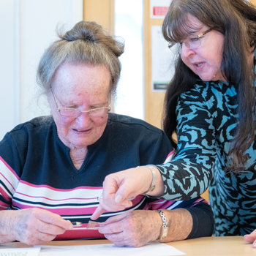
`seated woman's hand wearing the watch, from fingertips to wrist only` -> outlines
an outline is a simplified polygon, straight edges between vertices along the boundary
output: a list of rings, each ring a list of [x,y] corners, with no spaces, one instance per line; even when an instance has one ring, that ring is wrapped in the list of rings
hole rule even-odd
[[[99,233],[116,246],[140,247],[159,238],[162,221],[156,211],[129,211],[110,217]]]

